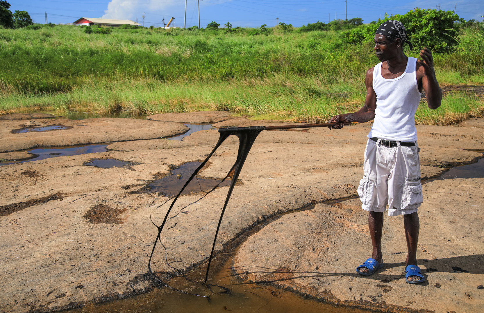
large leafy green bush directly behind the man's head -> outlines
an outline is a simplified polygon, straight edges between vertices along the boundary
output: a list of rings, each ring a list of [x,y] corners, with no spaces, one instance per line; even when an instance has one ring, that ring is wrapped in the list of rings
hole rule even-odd
[[[465,23],[454,11],[415,8],[403,15],[393,15],[407,29],[409,41],[416,49],[427,47],[432,52],[450,52],[457,43],[446,33],[454,27],[454,21]],[[458,29],[455,29],[458,30]]]

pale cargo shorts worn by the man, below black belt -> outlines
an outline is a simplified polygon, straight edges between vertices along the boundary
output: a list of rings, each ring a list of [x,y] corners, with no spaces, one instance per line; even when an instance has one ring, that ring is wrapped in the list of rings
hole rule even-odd
[[[417,212],[423,202],[418,151],[417,143],[389,148],[368,139],[358,186],[363,210],[384,212],[388,205],[389,216]]]

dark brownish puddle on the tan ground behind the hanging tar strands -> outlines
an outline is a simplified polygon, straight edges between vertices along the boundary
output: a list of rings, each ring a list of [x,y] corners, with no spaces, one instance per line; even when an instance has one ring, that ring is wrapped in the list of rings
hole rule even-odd
[[[200,164],[200,162],[188,162],[182,164],[179,168],[171,171],[173,173],[172,175],[155,180],[152,183],[144,186],[142,190],[144,190],[145,193],[161,192],[166,197],[176,196],[178,192],[180,192],[183,185],[187,182],[188,178],[190,178],[192,173]],[[198,175],[198,177],[192,179],[192,181],[188,184],[188,186],[186,186],[181,194],[188,195],[198,194],[202,191],[208,192],[211,191],[212,188],[215,187],[220,181],[221,179],[200,177]],[[230,185],[230,181],[231,180],[227,178],[219,185],[219,187]]]

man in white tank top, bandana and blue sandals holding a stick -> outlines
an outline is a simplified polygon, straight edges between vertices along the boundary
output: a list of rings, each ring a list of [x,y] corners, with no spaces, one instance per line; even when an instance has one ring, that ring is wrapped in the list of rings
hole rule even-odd
[[[363,179],[358,187],[362,208],[368,211],[373,254],[356,272],[368,276],[383,267],[381,233],[383,212],[403,214],[407,239],[405,280],[422,283],[425,278],[417,266],[417,242],[420,222],[417,208],[423,202],[420,183],[420,159],[415,128],[415,111],[422,89],[427,105],[437,109],[442,91],[435,77],[432,54],[423,48],[417,60],[403,53],[407,33],[402,23],[390,20],[382,23],[375,35],[375,52],[381,61],[366,72],[366,100],[354,113],[336,115],[329,121],[335,129],[345,122],[374,120],[366,144]]]

